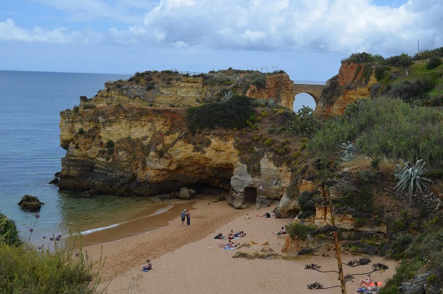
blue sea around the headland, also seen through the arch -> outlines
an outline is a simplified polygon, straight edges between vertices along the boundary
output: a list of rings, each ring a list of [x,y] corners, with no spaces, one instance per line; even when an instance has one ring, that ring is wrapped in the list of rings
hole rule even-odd
[[[66,236],[69,232],[101,232],[95,243],[114,241],[129,237],[124,229],[129,223],[130,234],[134,235],[158,229],[178,216],[183,203],[114,195],[81,198],[79,192],[59,190],[48,184],[61,171],[61,158],[66,153],[60,147],[60,111],[78,105],[80,96],[92,98],[104,88],[105,81],[128,77],[0,71],[0,213],[16,221],[23,238],[27,239],[29,229],[33,228],[33,244],[41,242],[42,236]],[[306,93],[296,96],[294,110],[302,105],[315,109],[314,99]],[[37,196],[45,203],[39,219],[17,205],[25,194]]]

